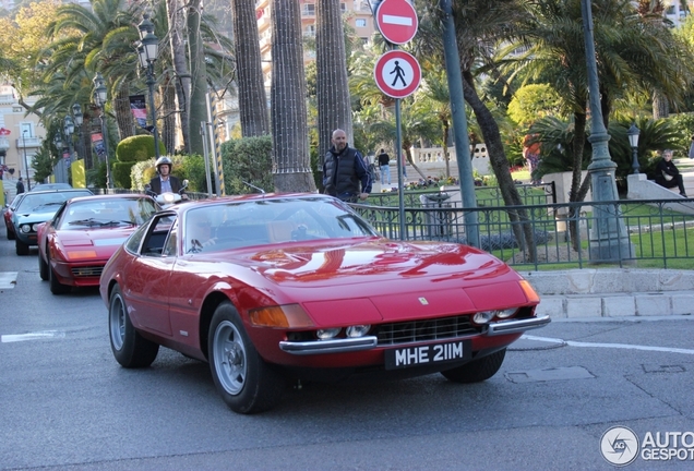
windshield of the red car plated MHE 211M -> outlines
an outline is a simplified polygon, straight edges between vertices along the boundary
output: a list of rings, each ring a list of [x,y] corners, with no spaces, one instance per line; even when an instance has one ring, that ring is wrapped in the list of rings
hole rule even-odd
[[[358,215],[325,196],[203,205],[188,210],[184,220],[187,253],[378,235]]]

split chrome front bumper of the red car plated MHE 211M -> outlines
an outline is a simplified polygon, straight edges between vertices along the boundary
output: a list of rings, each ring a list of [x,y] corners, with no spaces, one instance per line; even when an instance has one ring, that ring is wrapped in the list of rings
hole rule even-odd
[[[487,331],[479,334],[482,337],[494,337],[500,335],[519,334],[534,328],[545,327],[551,322],[550,316],[531,317],[524,319],[499,321],[488,324]],[[466,336],[470,338],[476,336]],[[445,341],[455,340],[454,338],[440,339]],[[324,353],[344,353],[360,350],[371,350],[376,348],[379,339],[375,336],[367,336],[359,338],[344,338],[334,340],[311,340],[311,341],[287,341],[279,342],[279,349],[286,353],[296,355],[324,354]],[[388,346],[394,347],[394,346]]]

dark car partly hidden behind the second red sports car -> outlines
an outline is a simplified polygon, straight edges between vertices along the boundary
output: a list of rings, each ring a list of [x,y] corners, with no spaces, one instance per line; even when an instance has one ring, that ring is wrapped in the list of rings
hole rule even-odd
[[[12,214],[16,254],[28,255],[29,246],[37,245],[38,225],[52,218],[65,201],[91,194],[86,189],[26,193]]]

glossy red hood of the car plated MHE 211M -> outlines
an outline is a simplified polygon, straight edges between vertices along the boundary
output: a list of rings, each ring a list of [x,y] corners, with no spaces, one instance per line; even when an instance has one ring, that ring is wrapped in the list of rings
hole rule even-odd
[[[528,304],[518,274],[459,244],[372,239],[287,245],[240,257],[237,267],[262,277],[252,286],[279,303],[301,300],[319,323],[333,318],[336,300],[352,321],[364,323]]]

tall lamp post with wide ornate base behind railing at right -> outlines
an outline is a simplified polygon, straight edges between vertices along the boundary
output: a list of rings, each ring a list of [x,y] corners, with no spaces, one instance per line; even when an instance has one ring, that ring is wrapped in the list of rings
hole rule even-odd
[[[600,108],[600,89],[598,85],[598,67],[595,59],[595,41],[593,37],[593,10],[590,0],[581,0],[583,15],[584,40],[586,46],[586,69],[588,89],[590,95],[590,137],[593,156],[588,172],[593,190],[593,200],[600,202],[617,202],[617,181],[614,171],[617,164],[610,157],[608,141],[610,135],[605,129],[602,109]],[[593,206],[594,225],[590,229],[589,246],[590,261],[607,263],[630,258],[633,250],[622,220],[619,204],[597,204]]]

